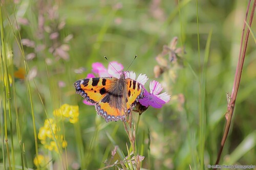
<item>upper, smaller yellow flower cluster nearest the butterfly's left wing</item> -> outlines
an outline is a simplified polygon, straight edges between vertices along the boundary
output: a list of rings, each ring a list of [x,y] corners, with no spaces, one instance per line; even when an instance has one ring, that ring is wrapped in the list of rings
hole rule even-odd
[[[69,122],[74,124],[78,121],[79,108],[78,106],[63,104],[59,109],[54,110],[53,114],[58,117],[69,118]]]

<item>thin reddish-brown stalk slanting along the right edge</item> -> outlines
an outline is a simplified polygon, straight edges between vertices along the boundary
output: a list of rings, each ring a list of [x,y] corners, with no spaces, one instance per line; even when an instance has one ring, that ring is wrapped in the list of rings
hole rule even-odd
[[[247,6],[245,21],[247,20],[250,3],[251,3],[251,0],[249,1],[248,6]],[[252,9],[251,9],[251,14],[250,14],[250,19],[249,19],[249,26],[250,27],[252,25],[255,6],[256,6],[256,0],[254,0],[253,6],[252,6]],[[241,46],[240,46],[240,52],[239,52],[239,60],[238,60],[238,65],[237,65],[237,69],[236,69],[236,75],[234,76],[234,84],[233,84],[232,93],[231,93],[231,100],[230,100],[230,102],[228,103],[228,106],[227,106],[228,119],[227,119],[227,122],[226,122],[225,131],[224,131],[224,134],[223,134],[223,137],[222,137],[222,140],[221,140],[221,147],[220,147],[218,157],[217,157],[217,161],[216,161],[215,164],[218,164],[219,161],[220,161],[221,153],[222,153],[225,141],[227,139],[227,135],[228,135],[230,124],[231,124],[231,118],[232,118],[233,111],[234,111],[234,104],[236,103],[238,88],[239,88],[239,84],[240,84],[240,81],[241,81],[241,75],[242,75],[242,70],[243,70],[243,65],[244,65],[245,53],[246,53],[246,50],[247,50],[247,43],[248,43],[248,38],[249,38],[249,33],[250,33],[250,30],[247,28],[246,36],[245,36],[245,40],[244,40],[244,47],[243,47],[243,38],[244,38],[245,26],[246,26],[246,23],[244,22],[242,38],[241,38]],[[242,50],[242,47],[243,47],[243,50]]]

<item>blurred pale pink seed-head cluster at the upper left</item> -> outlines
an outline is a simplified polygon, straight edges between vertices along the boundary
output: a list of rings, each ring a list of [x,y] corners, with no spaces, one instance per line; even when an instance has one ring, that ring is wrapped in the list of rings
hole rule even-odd
[[[55,61],[59,59],[69,60],[69,42],[73,35],[70,34],[62,38],[61,32],[65,29],[66,22],[63,18],[59,17],[58,6],[44,1],[39,2],[38,5],[40,5],[40,10],[36,11],[38,15],[37,29],[31,33],[33,37],[21,40],[22,44],[31,48],[30,51],[32,51],[26,55],[26,60],[29,61],[36,57],[45,56],[46,50],[52,54]],[[17,19],[17,22],[18,28],[31,27],[31,21],[28,18],[20,17]],[[32,40],[34,38],[36,38],[36,41]],[[46,62],[47,64],[52,64],[54,60],[53,58],[46,58]]]

